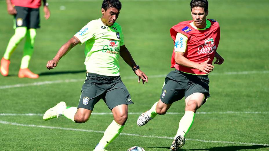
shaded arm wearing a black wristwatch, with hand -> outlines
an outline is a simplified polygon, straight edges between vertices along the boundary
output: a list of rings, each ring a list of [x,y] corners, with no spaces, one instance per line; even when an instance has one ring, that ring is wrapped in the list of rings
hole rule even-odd
[[[121,58],[131,67],[135,68],[137,67],[137,64],[134,62],[134,59],[132,58],[130,52],[128,49],[125,47],[125,45],[120,46],[119,54]],[[142,78],[143,84],[144,82],[148,83],[148,76],[142,72],[140,69],[137,69],[134,71],[134,73],[138,76],[138,83],[140,83],[140,79]]]

